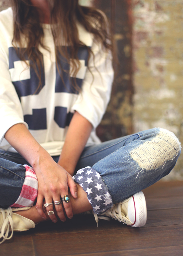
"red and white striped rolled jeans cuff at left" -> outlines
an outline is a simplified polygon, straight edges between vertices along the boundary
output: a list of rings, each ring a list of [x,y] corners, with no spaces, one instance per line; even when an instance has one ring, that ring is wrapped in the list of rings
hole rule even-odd
[[[21,194],[16,202],[10,207],[27,207],[32,206],[38,195],[38,179],[32,169],[27,164],[24,165],[26,168],[26,176],[21,190]]]

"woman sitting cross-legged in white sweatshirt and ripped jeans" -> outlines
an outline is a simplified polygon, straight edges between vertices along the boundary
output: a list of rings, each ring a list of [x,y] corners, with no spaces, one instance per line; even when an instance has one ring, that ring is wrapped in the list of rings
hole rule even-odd
[[[97,222],[145,225],[141,190],[173,169],[180,142],[161,128],[97,138],[114,76],[106,16],[78,0],[10,2],[0,13],[1,242],[90,210]]]

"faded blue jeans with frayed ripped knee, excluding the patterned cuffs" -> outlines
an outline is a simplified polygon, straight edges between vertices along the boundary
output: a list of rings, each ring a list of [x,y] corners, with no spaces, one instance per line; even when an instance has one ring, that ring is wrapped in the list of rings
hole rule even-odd
[[[167,130],[154,128],[85,147],[76,170],[91,166],[108,187],[113,203],[166,176],[180,155],[180,142]],[[53,157],[57,162],[59,156]],[[27,161],[18,153],[0,151],[0,206],[12,205],[21,193]]]

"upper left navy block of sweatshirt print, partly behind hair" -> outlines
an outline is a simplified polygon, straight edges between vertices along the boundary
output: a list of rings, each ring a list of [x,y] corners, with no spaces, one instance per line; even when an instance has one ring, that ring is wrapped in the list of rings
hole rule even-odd
[[[18,49],[20,51],[20,49]],[[26,61],[28,60],[28,57],[26,57]],[[19,56],[17,55],[15,49],[13,47],[9,48],[9,69],[14,68],[14,62],[20,61]],[[43,56],[42,56],[43,61]],[[38,88],[39,85],[39,79],[35,72],[35,70],[32,67],[32,62],[30,61],[30,75],[31,78],[27,80],[21,80],[21,81],[12,81],[13,85],[15,86],[16,92],[20,97],[22,96],[28,96],[32,94],[38,94],[41,89],[45,85],[45,78],[44,78],[44,67],[41,67],[41,88]]]

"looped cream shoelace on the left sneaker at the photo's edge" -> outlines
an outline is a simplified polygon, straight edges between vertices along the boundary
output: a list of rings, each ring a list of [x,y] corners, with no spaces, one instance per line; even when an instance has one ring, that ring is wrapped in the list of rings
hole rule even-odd
[[[3,208],[0,208],[0,215],[3,215],[3,223],[1,224],[1,227],[0,227],[0,239],[3,238],[3,240],[0,242],[3,243],[5,240],[8,240],[8,239],[11,239],[12,236],[13,236],[13,220],[12,220],[12,208],[9,207],[7,210],[6,210],[6,218],[5,218],[5,211]],[[9,233],[9,224],[10,224],[10,227],[11,227],[11,234],[10,236],[8,237],[8,233]]]

